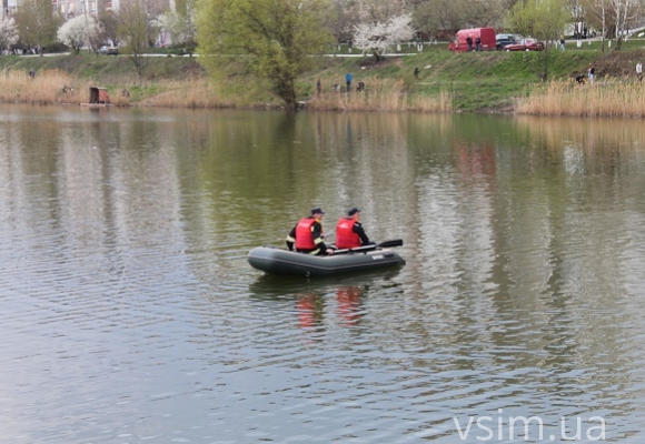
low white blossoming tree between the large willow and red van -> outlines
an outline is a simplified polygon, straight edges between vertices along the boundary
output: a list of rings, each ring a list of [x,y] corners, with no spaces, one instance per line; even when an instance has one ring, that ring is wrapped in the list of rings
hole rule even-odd
[[[410,14],[401,14],[386,21],[359,23],[354,28],[354,46],[364,53],[371,51],[378,61],[389,47],[414,37],[411,21]]]

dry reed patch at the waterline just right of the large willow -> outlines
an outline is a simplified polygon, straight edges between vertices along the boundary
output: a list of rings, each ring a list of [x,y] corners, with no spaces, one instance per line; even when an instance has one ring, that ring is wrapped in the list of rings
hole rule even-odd
[[[326,80],[324,84],[331,84]],[[438,97],[409,91],[400,80],[370,79],[365,91],[354,88],[347,93],[331,87],[319,97],[311,98],[307,107],[314,110],[449,112],[453,110],[453,98],[445,91]]]

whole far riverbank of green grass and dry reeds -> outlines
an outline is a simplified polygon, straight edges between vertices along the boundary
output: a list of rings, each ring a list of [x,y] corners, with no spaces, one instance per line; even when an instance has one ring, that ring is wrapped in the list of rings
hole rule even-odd
[[[530,100],[549,94],[552,104],[563,91],[555,87],[566,83],[576,73],[585,72],[589,62],[596,67],[596,85],[622,84],[634,81],[636,60],[645,56],[643,41],[631,41],[623,51],[602,52],[593,46],[549,51],[548,79],[554,87],[540,81],[544,72],[543,53],[536,52],[473,52],[455,54],[445,44],[430,46],[424,52],[408,52],[387,57],[380,62],[367,57],[329,57],[319,71],[300,79],[300,100],[312,109],[322,110],[388,110],[388,111],[515,111],[544,113],[544,104],[532,108]],[[573,46],[572,46],[573,47]],[[406,52],[408,48],[404,48]],[[414,50],[414,48],[413,48]],[[280,107],[261,82],[238,82],[211,88],[197,58],[152,57],[147,60],[146,75],[137,78],[126,56],[93,54],[52,57],[0,57],[0,101],[34,103],[87,102],[89,87],[108,88],[115,104],[216,108],[216,107]],[[37,71],[34,80],[28,71]],[[414,70],[420,70],[418,79]],[[345,74],[354,75],[350,94],[333,91],[345,87]],[[316,94],[316,79],[322,92]],[[607,80],[613,79],[613,80]],[[365,91],[356,91],[358,82]],[[548,83],[547,83],[548,84]],[[73,92],[63,92],[63,87]],[[559,88],[559,89],[558,89]],[[568,88],[568,87],[566,87]],[[128,93],[123,93],[127,91]],[[576,90],[573,90],[576,94]],[[628,92],[633,94],[634,91]],[[570,95],[570,94],[569,94]],[[623,97],[621,94],[616,97]],[[570,98],[559,105],[570,107]],[[605,98],[589,99],[605,100]],[[588,107],[587,107],[588,108]],[[548,112],[558,107],[552,105]]]

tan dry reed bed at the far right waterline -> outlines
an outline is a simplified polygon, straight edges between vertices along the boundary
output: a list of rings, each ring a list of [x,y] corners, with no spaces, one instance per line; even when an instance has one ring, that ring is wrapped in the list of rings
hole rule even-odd
[[[537,87],[517,101],[519,114],[570,117],[645,117],[645,84],[605,79],[577,84],[574,81],[553,81]]]

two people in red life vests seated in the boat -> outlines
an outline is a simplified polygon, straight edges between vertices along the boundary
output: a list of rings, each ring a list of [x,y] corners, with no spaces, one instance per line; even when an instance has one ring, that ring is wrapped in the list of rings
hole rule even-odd
[[[299,253],[330,255],[337,249],[355,249],[364,245],[374,245],[365,233],[360,223],[360,209],[353,208],[346,216],[336,224],[336,245],[325,243],[322,216],[325,212],[319,206],[311,210],[310,215],[300,219],[287,235],[287,248]]]

